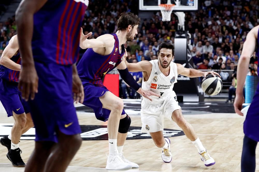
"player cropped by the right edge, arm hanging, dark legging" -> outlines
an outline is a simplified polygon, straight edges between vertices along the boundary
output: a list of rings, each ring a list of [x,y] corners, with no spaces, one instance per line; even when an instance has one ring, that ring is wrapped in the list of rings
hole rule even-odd
[[[249,31],[244,42],[241,56],[238,61],[236,97],[234,101],[235,112],[241,116],[242,104],[244,103],[243,86],[246,80],[246,75],[249,67],[249,61],[254,51],[259,57],[259,26],[254,27]],[[257,72],[259,70],[257,69]],[[247,111],[246,120],[244,121],[244,140],[241,157],[241,171],[255,171],[255,150],[257,142],[259,142],[259,84],[253,101]]]

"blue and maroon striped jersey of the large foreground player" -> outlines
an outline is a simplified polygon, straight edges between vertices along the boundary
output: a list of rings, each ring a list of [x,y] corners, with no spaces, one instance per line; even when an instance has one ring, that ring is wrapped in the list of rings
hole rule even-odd
[[[34,14],[35,61],[71,65],[79,57],[80,27],[88,0],[48,0]]]

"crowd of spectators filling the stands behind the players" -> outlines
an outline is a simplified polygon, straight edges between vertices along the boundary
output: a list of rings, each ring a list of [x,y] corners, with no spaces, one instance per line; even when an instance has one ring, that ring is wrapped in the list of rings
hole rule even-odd
[[[89,0],[82,23],[84,34],[93,32],[91,38],[115,33],[117,20],[122,12],[138,14],[138,0]],[[199,10],[185,13],[185,28],[191,34],[189,46],[197,69],[216,70],[223,81],[232,81],[240,58],[246,35],[257,26],[259,2],[257,0],[206,0],[200,1]],[[158,47],[162,42],[174,45],[178,19],[171,14],[170,22],[163,22],[160,11],[150,18],[142,18],[138,35],[124,46],[128,62],[157,59]],[[14,17],[0,23],[0,54],[8,40],[16,34]],[[85,50],[80,50],[82,55]],[[175,57],[177,58],[177,57]],[[257,75],[257,56],[250,60],[248,75]],[[136,77],[136,79],[142,77]],[[140,82],[140,81],[139,81]],[[127,85],[126,85],[127,87]],[[121,89],[125,88],[122,82]],[[137,97],[125,88],[121,97]],[[128,93],[125,95],[125,93]],[[133,95],[135,94],[135,95]]]

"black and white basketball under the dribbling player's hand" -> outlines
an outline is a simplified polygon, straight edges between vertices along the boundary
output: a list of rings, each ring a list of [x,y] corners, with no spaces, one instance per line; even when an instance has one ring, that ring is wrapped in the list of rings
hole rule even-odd
[[[214,96],[220,93],[222,89],[222,80],[219,76],[207,75],[202,80],[202,90],[204,93],[210,96]]]

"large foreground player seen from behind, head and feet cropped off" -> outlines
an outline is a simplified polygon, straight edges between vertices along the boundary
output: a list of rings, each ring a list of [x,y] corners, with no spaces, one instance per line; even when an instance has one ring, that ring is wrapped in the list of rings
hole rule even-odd
[[[18,88],[35,125],[35,149],[25,172],[66,171],[81,146],[74,100],[82,102],[84,91],[75,63],[88,3],[22,0],[16,11],[23,57]]]

